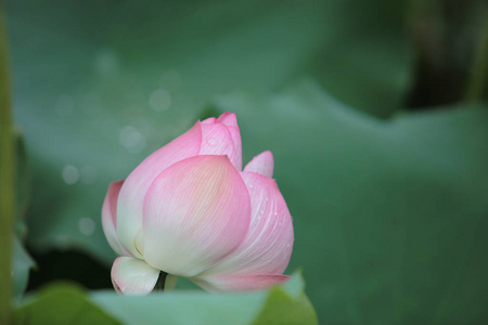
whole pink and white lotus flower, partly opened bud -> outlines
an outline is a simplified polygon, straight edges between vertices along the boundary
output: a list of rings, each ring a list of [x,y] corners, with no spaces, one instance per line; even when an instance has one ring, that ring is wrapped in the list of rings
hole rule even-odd
[[[293,224],[264,152],[242,170],[234,114],[197,121],[125,181],[110,185],[102,223],[120,256],[112,282],[123,295],[147,295],[160,271],[208,291],[280,284],[293,249]]]

